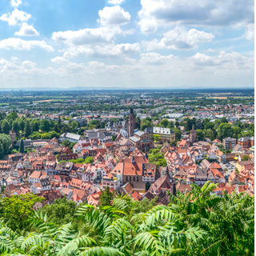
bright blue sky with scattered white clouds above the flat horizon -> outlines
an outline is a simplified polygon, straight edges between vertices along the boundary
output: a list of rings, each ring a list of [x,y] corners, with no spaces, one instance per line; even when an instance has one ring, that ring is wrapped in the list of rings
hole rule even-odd
[[[254,86],[253,0],[1,0],[1,88]]]

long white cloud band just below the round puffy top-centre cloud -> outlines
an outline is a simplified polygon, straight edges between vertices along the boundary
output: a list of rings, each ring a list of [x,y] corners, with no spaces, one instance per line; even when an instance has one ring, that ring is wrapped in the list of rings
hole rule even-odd
[[[52,34],[52,39],[66,44],[82,46],[86,44],[111,42],[116,34],[133,34],[134,30],[123,31],[120,27],[99,27],[97,29],[84,29],[76,31],[59,31]]]

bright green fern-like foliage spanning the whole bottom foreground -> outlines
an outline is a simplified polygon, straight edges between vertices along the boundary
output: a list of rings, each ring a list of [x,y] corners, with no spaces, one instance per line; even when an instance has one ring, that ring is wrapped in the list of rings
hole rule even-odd
[[[189,194],[170,196],[170,206],[136,213],[128,196],[116,196],[102,210],[80,206],[78,222],[97,231],[57,226],[34,212],[34,232],[18,236],[0,224],[1,255],[254,255],[254,198],[247,194],[210,193],[216,185],[194,185]]]

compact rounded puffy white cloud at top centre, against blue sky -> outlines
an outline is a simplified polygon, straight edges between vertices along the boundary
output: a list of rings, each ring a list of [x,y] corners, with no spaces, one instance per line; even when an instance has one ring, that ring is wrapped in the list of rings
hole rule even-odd
[[[98,11],[102,26],[121,26],[130,22],[130,14],[120,6],[104,7]]]

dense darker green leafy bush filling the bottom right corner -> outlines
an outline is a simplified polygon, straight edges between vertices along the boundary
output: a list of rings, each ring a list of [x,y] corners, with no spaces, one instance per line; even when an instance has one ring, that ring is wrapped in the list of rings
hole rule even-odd
[[[194,183],[191,186],[192,190],[187,194],[178,191],[177,197],[170,195],[170,208],[174,214],[181,213],[179,220],[186,223],[185,229],[192,224],[209,234],[198,244],[198,253],[194,251],[194,255],[200,255],[202,251],[206,255],[250,255],[246,252],[253,246],[248,239],[250,232],[254,234],[254,198],[249,194],[213,196],[211,193],[218,184],[210,181],[201,188]],[[211,246],[206,246],[208,242]]]

